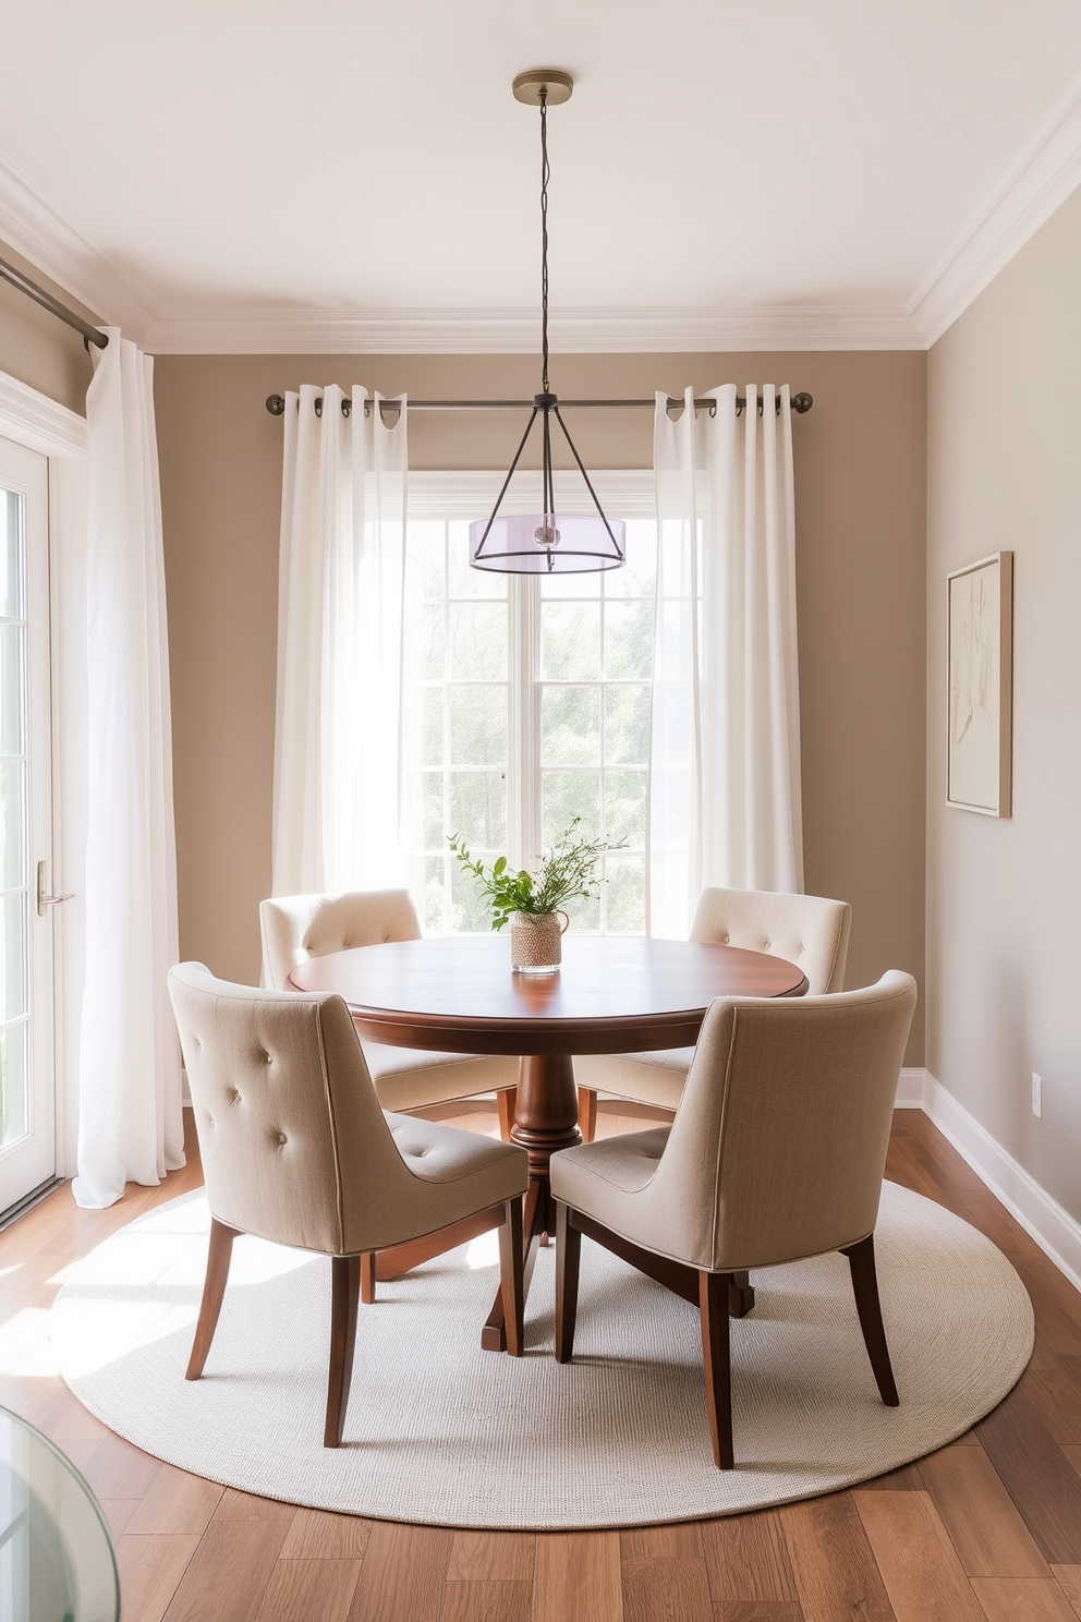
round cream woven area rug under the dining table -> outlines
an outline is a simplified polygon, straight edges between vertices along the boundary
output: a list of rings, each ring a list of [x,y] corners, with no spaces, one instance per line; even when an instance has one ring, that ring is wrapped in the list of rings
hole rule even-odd
[[[486,1234],[361,1306],[334,1450],[323,1447],[326,1257],[240,1239],[206,1374],[183,1379],[207,1225],[203,1194],[190,1194],[73,1268],[52,1312],[68,1385],[172,1465],[353,1515],[556,1530],[812,1497],[953,1440],[1032,1350],[1032,1309],[1006,1259],[887,1182],[875,1251],[901,1406],[878,1400],[844,1257],[758,1272],[755,1311],[733,1322],[737,1468],[720,1471],[695,1307],[585,1241],[574,1362],[553,1356],[551,1249],[527,1302],[527,1354],[481,1351],[498,1281]]]

